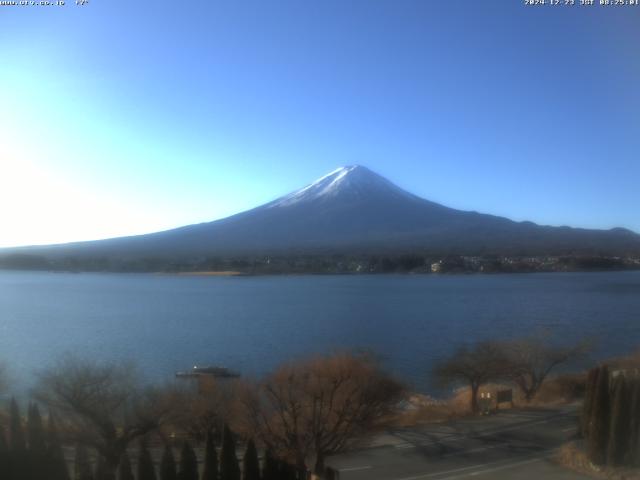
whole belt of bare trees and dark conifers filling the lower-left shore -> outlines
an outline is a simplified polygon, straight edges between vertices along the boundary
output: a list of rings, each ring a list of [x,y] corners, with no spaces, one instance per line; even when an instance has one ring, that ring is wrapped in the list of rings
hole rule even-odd
[[[67,357],[34,390],[47,428],[36,404],[23,418],[13,400],[0,419],[0,478],[330,479],[325,458],[378,428],[402,392],[369,355],[312,358],[197,391],[146,386],[130,364]]]

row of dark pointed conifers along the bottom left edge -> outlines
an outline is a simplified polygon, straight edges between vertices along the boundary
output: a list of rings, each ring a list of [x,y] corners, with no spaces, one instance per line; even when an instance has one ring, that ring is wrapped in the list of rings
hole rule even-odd
[[[110,465],[101,455],[94,457],[86,445],[78,443],[74,449],[72,466],[67,464],[62,442],[52,414],[45,429],[37,404],[30,404],[26,422],[15,399],[9,413],[9,435],[0,430],[0,478],[3,480],[293,480],[295,470],[276,458],[267,449],[261,467],[258,451],[250,439],[242,456],[242,470],[238,465],[236,440],[228,426],[220,451],[213,434],[207,436],[202,474],[198,458],[189,441],[184,441],[176,461],[174,449],[164,446],[156,468],[144,438],[138,444],[136,468],[125,449],[117,465]],[[135,471],[135,474],[134,474]]]

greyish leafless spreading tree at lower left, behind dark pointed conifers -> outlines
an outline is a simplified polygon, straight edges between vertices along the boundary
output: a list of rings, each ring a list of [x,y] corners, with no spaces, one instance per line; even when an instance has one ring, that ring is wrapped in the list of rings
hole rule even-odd
[[[172,403],[143,388],[132,365],[74,357],[42,372],[36,395],[65,422],[70,440],[97,451],[110,478],[131,441],[158,428]]]

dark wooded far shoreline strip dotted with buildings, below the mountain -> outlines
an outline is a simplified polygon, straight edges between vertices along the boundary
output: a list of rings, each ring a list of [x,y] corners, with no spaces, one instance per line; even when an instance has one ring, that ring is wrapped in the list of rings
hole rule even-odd
[[[507,256],[505,256],[507,255]],[[540,271],[637,270],[637,258],[588,255],[547,255],[531,257],[517,254],[455,255],[444,252],[398,253],[315,253],[241,256],[206,256],[197,258],[115,256],[60,256],[12,253],[0,256],[0,268],[16,270],[53,270],[88,272],[194,272],[238,271],[253,275],[289,273],[431,273],[436,263],[440,273],[517,273]]]

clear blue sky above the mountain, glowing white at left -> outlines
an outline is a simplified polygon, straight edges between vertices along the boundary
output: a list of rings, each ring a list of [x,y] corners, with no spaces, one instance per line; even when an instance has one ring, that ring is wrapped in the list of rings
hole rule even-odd
[[[214,220],[346,164],[640,231],[639,47],[640,6],[0,6],[0,245]]]

